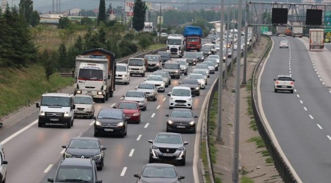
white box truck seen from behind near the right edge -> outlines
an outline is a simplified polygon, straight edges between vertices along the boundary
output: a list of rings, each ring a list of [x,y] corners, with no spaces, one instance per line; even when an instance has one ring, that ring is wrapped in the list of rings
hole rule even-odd
[[[324,29],[311,28],[309,29],[309,50],[324,49]]]

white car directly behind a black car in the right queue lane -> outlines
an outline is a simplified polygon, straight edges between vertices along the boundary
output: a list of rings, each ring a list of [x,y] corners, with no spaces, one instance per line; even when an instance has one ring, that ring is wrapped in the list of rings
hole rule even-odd
[[[169,109],[173,108],[189,108],[192,109],[192,97],[191,88],[187,86],[174,86],[171,92],[168,94]]]

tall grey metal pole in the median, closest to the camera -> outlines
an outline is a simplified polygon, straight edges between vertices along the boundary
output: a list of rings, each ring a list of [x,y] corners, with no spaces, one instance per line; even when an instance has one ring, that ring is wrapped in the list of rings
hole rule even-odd
[[[238,2],[238,39],[237,46],[241,45],[241,6],[242,0]],[[237,48],[237,76],[236,76],[236,111],[235,111],[235,125],[234,125],[234,139],[233,139],[233,168],[232,168],[232,182],[238,183],[239,179],[239,110],[240,110],[240,52]]]

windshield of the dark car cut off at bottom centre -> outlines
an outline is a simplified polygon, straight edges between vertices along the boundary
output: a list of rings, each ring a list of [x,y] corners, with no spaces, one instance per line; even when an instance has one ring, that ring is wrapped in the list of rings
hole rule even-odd
[[[173,167],[145,167],[143,177],[176,178],[176,170]]]

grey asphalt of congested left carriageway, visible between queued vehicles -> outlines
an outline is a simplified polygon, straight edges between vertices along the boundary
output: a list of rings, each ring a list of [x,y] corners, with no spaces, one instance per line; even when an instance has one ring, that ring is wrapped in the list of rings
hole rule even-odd
[[[224,68],[224,67],[223,67]],[[192,68],[189,67],[189,73]],[[206,89],[201,90],[199,97],[193,98],[193,111],[200,114],[202,103],[218,73],[211,74],[208,78]],[[151,72],[147,72],[147,75]],[[148,102],[147,110],[142,111],[141,124],[129,124],[125,138],[100,137],[105,150],[104,167],[98,171],[98,178],[103,182],[135,182],[133,174],[139,173],[148,163],[149,139],[153,139],[157,132],[166,131],[166,114],[170,113],[169,97],[173,86],[179,85],[181,79],[172,79],[166,92],[159,93],[157,101]],[[121,101],[122,95],[127,90],[134,89],[143,82],[143,77],[132,76],[129,85],[118,84],[114,97],[106,103],[97,103],[95,115],[103,107],[111,107]],[[199,116],[200,117],[200,116]],[[8,160],[7,182],[47,182],[47,177],[54,177],[54,172],[63,156],[62,145],[67,145],[72,137],[93,137],[92,119],[74,120],[71,129],[62,126],[38,128],[36,121],[38,113],[34,112],[25,116],[15,125],[0,133],[0,140],[5,142],[6,159]],[[26,126],[30,127],[27,128]],[[21,133],[17,133],[18,131]],[[200,132],[198,132],[200,133]],[[188,141],[185,166],[176,166],[180,175],[184,175],[183,182],[194,182],[192,162],[194,157],[194,145],[196,134],[183,134]],[[5,141],[4,141],[5,140]],[[132,156],[129,156],[133,151]],[[198,156],[198,155],[196,155]],[[200,172],[199,172],[200,174]],[[202,177],[199,175],[202,182]]]

